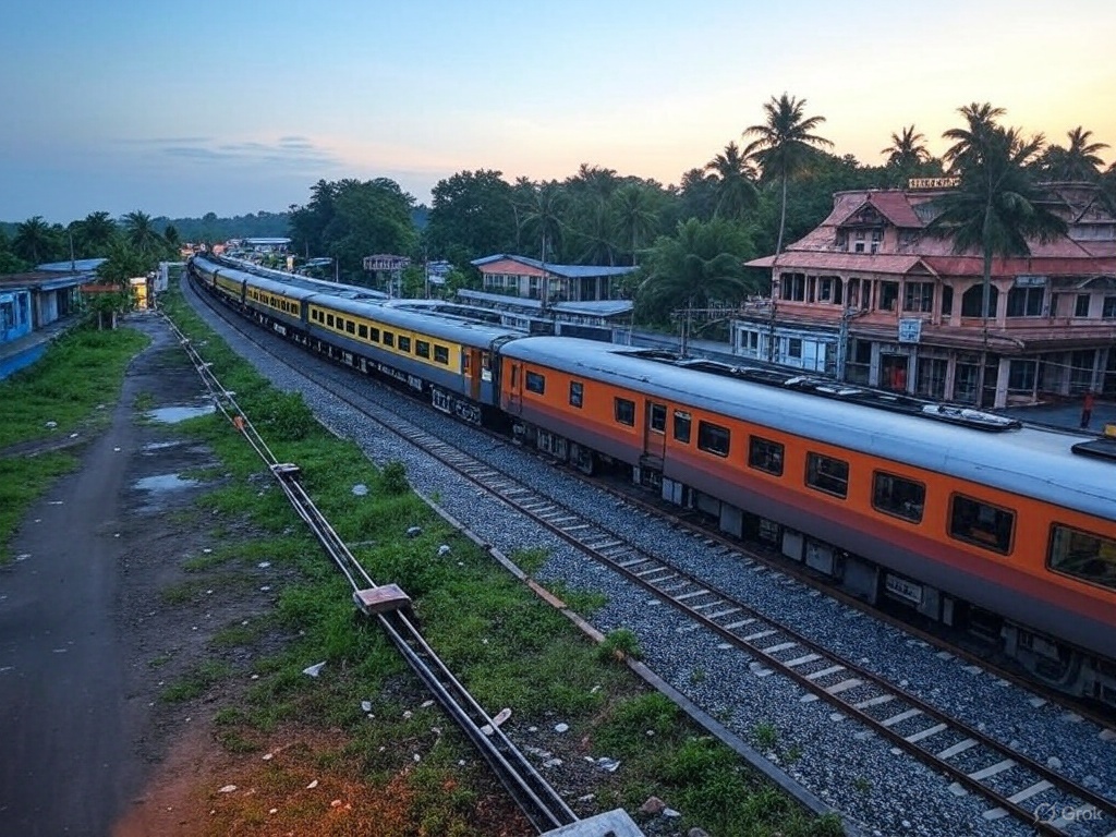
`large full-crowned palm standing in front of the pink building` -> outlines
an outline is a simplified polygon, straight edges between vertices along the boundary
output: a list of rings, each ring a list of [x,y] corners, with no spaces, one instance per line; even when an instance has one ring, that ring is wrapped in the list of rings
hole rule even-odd
[[[995,119],[1003,110],[991,105],[969,105],[960,113],[966,126],[943,135],[954,141],[945,158],[960,184],[934,201],[937,214],[927,230],[952,238],[955,253],[978,250],[983,257],[981,317],[987,353],[992,260],[1029,256],[1030,241],[1048,242],[1065,234],[1067,225],[1046,208],[1029,169],[1042,151],[1041,134],[1027,140],[1017,128],[1001,127]],[[983,391],[983,375],[982,362],[978,392]]]

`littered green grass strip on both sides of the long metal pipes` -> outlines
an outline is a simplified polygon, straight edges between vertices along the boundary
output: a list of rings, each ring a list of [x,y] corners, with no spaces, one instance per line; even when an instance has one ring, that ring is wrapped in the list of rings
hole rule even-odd
[[[683,833],[700,826],[729,837],[840,834],[839,822],[802,812],[618,664],[618,657],[639,655],[634,634],[616,631],[602,646],[594,645],[417,500],[400,463],[376,469],[355,445],[310,421],[298,396],[270,392],[200,328],[174,294],[165,307],[222,383],[237,392],[276,456],[301,468],[302,484],[338,533],[363,545],[362,562],[376,583],[398,584],[411,596],[423,635],[480,705],[492,713],[509,706],[518,722],[533,719],[540,727],[560,718],[584,735],[586,754],[622,759],[622,770],[598,793],[600,808],[634,810],[654,793],[684,812],[677,824]],[[436,709],[421,708],[427,695],[378,623],[356,614],[349,586],[240,435],[217,416],[181,426],[213,450],[221,473],[228,474],[200,500],[198,511],[199,525],[222,538],[212,552],[185,561],[196,578],[164,590],[164,600],[182,607],[204,604],[215,583],[235,583],[241,574],[254,578],[253,568],[264,560],[282,571],[283,581],[276,586],[273,612],[219,631],[209,643],[213,660],[166,686],[163,700],[195,700],[235,675],[247,683],[243,695],[217,714],[218,738],[230,752],[254,752],[266,735],[288,723],[343,730],[347,743],[316,753],[323,769],[355,766],[368,782],[406,771],[425,833],[460,831],[478,801],[478,786],[461,780],[459,761],[473,760],[464,738]],[[369,492],[354,496],[356,483]],[[422,533],[407,538],[411,526]],[[450,545],[450,555],[437,555],[442,543]],[[539,549],[512,555],[529,573],[547,557]],[[556,593],[583,614],[606,604],[594,591]],[[277,645],[277,636],[287,641]],[[231,650],[252,652],[268,642],[267,654],[238,655],[250,661],[241,667],[221,661]],[[304,674],[319,662],[326,664],[319,677]],[[243,666],[258,679],[247,680]],[[363,701],[371,702],[375,722],[369,723]],[[436,745],[429,745],[432,727],[444,730]],[[422,761],[415,763],[400,742],[415,742]]]

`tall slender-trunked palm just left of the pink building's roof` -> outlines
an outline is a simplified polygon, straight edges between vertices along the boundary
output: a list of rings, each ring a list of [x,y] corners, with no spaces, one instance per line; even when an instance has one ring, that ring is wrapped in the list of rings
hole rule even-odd
[[[779,239],[775,252],[782,252],[782,234],[787,227],[787,182],[804,171],[814,153],[829,147],[831,142],[812,134],[826,121],[825,116],[804,116],[806,99],[782,94],[763,105],[767,122],[744,129],[744,136],[754,136],[744,148],[744,156],[760,165],[766,180],[778,177],[782,185],[782,208],[779,212]]]

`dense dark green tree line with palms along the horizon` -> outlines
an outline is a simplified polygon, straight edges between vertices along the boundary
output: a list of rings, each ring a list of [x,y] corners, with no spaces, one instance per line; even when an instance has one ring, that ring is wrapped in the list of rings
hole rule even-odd
[[[1076,127],[1065,144],[1023,137],[1002,127],[1003,112],[991,105],[959,109],[962,126],[947,131],[953,145],[942,158],[927,151],[915,125],[891,135],[882,165],[830,153],[821,135],[825,117],[783,94],[762,107],[764,119],[741,132],[676,185],[622,175],[583,164],[565,180],[509,181],[494,170],[462,171],[432,190],[431,206],[387,179],[318,181],[305,205],[288,212],[258,212],[233,219],[151,219],[133,212],[114,221],[96,212],[62,227],[32,218],[0,224],[0,272],[42,261],[109,256],[132,266],[171,256],[180,241],[215,243],[229,238],[288,235],[299,258],[329,257],[336,272],[366,280],[362,259],[375,253],[407,256],[415,264],[448,260],[469,280],[473,259],[508,252],[550,263],[637,266],[625,290],[637,310],[663,321],[680,307],[732,304],[764,292],[770,277],[749,272],[744,261],[781,252],[830,211],[834,192],[897,187],[915,176],[950,174],[961,186],[947,196],[932,233],[951,234],[959,248],[991,259],[1026,251],[1028,238],[1054,234],[1040,211],[1042,181],[1100,185],[1116,209],[1116,164],[1104,170],[1098,153],[1108,146]],[[1020,209],[1022,208],[1022,209]],[[129,267],[131,269],[131,267]],[[422,288],[413,269],[407,290]]]

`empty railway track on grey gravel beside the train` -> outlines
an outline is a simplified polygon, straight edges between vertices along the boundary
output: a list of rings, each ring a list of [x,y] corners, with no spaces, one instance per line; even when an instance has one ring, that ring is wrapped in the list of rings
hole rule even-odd
[[[240,323],[231,321],[240,328]],[[251,330],[242,333],[270,352]],[[735,648],[747,654],[756,676],[778,675],[792,681],[805,693],[801,702],[827,702],[835,710],[834,718],[839,719],[835,722],[858,722],[866,732],[952,779],[952,789],[958,795],[971,792],[985,799],[987,820],[1012,817],[1039,834],[1070,836],[1078,833],[1077,825],[1094,822],[1101,816],[1116,821],[1116,801],[1075,782],[1057,768],[949,715],[398,414],[364,401],[355,403],[340,391],[348,387],[318,383],[385,431],[421,448],[492,497],[671,605],[692,625],[714,633],[724,650]],[[708,542],[711,559],[737,562],[741,571],[766,571],[761,562],[742,550]],[[1107,837],[1116,837],[1116,831]]]

